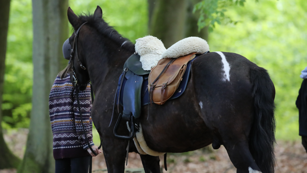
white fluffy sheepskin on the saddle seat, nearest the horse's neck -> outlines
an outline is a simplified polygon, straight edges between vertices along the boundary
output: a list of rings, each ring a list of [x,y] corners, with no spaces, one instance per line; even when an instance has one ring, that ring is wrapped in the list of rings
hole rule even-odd
[[[140,55],[144,70],[151,70],[156,66],[165,50],[164,44],[157,37],[148,35],[135,40],[135,51]]]

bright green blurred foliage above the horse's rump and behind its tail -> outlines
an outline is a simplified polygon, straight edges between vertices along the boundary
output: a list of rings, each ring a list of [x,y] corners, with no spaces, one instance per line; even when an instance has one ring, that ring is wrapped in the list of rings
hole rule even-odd
[[[241,54],[268,70],[276,89],[277,139],[298,139],[295,100],[307,66],[307,1],[247,1],[226,15],[237,21],[216,26],[209,35],[210,51]]]

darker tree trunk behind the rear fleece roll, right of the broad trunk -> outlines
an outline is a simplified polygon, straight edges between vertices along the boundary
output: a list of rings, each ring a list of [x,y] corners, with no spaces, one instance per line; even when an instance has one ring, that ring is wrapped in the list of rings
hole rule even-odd
[[[205,27],[198,32],[197,21],[200,16],[199,11],[193,14],[193,8],[196,3],[201,0],[189,0],[187,8],[187,17],[185,24],[185,38],[187,37],[200,37],[208,42],[208,27]]]

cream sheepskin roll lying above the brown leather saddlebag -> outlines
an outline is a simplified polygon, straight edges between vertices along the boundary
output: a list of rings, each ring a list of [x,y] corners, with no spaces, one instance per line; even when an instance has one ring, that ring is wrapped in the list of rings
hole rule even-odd
[[[199,37],[188,37],[173,44],[162,53],[162,58],[178,58],[190,53],[205,53],[209,51],[206,40]]]

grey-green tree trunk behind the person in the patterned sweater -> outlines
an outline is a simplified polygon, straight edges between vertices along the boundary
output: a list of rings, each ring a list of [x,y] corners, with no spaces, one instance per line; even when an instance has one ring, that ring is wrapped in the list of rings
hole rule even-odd
[[[27,148],[19,173],[55,172],[49,118],[49,93],[64,65],[68,38],[68,0],[33,0],[33,96]]]

